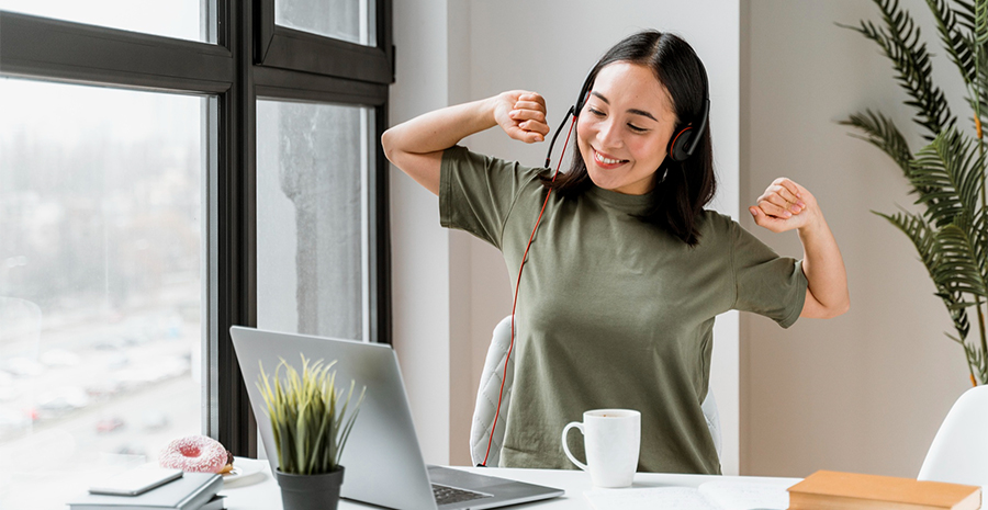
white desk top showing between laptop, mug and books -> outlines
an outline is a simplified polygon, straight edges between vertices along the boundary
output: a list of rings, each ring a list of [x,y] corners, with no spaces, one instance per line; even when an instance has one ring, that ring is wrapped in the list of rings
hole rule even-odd
[[[229,484],[221,494],[226,495],[227,510],[281,510],[281,490],[278,483],[271,476],[267,461],[240,460],[237,462],[262,463],[263,472],[246,478],[240,483]],[[560,498],[538,501],[527,505],[508,507],[512,510],[538,509],[538,510],[587,510],[590,505],[583,497],[585,490],[590,490],[590,474],[581,471],[554,471],[554,469],[508,469],[494,467],[463,467],[463,469],[481,473],[501,478],[510,478],[532,484],[547,485],[564,489],[566,494]],[[738,476],[709,476],[709,475],[664,475],[656,473],[639,473],[635,475],[633,487],[697,487],[705,481],[716,479],[734,479],[745,481],[759,481],[765,484],[778,484],[789,487],[800,478],[766,478],[766,477],[738,477]],[[346,479],[344,479],[346,484]],[[353,501],[340,500],[339,510],[358,510],[380,508],[360,505]]]

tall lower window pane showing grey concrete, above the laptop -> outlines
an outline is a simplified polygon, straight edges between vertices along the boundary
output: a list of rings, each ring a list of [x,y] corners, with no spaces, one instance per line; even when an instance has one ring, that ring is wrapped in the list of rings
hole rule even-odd
[[[370,107],[258,101],[259,328],[368,339],[372,118]]]

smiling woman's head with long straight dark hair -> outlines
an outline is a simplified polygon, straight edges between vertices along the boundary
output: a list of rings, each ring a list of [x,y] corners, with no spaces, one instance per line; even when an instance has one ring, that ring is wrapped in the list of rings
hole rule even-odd
[[[546,185],[562,196],[591,184],[630,195],[654,190],[641,219],[695,246],[694,220],[717,190],[707,71],[685,41],[655,34],[627,37],[591,70],[572,167]]]

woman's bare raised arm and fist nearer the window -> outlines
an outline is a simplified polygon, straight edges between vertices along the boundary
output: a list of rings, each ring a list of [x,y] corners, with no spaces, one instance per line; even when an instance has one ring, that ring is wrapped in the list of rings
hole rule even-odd
[[[513,90],[448,106],[385,131],[381,144],[389,161],[438,195],[442,151],[497,125],[516,140],[542,141],[549,133],[546,100],[535,92]]]

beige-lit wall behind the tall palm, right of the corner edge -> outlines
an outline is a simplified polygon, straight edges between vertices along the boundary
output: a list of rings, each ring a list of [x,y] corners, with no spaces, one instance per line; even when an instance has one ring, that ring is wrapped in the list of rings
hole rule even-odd
[[[934,59],[938,84],[957,109],[963,83],[943,56],[929,8],[902,0]],[[906,94],[878,47],[834,22],[880,21],[858,0],[742,2],[742,197],[789,177],[818,199],[837,236],[851,311],[800,319],[781,330],[742,318],[742,472],[806,476],[839,469],[914,477],[968,371],[944,337],[951,321],[905,235],[869,209],[912,208],[902,172],[877,148],[835,124],[866,107],[918,132]],[[955,110],[955,113],[969,111]],[[962,121],[967,127],[967,124]],[[920,147],[911,136],[912,149]],[[746,157],[745,157],[746,156]],[[752,222],[745,217],[745,225]],[[755,230],[797,256],[795,236]]]

